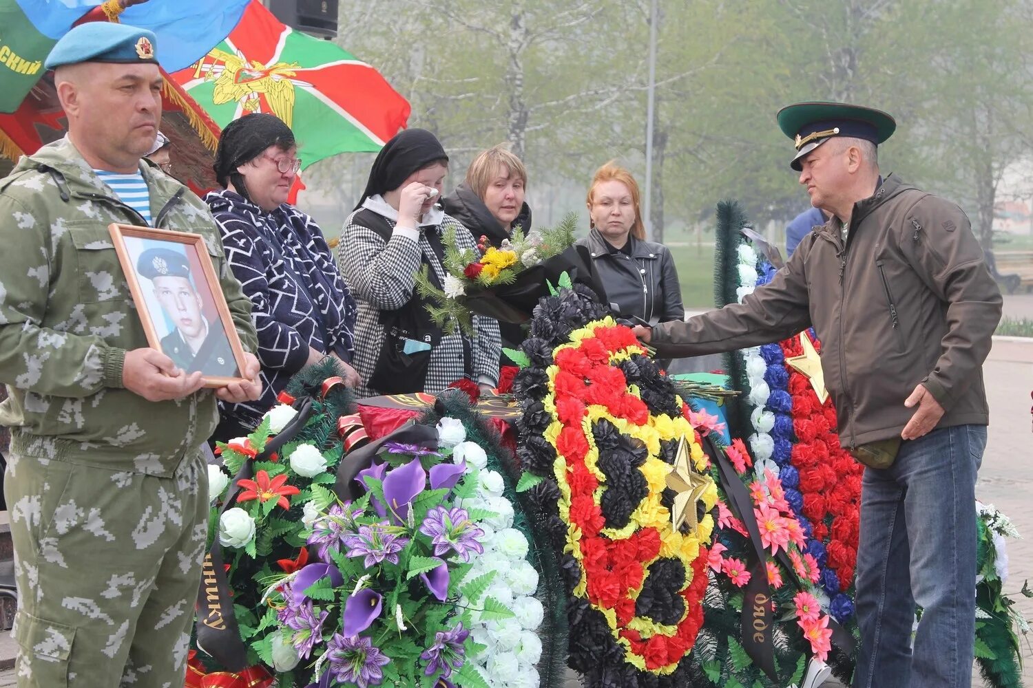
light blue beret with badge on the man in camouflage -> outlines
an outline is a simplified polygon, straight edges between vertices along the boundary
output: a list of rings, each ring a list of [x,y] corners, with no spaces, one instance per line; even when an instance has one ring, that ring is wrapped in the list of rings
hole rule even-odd
[[[61,36],[43,65],[55,69],[80,62],[158,63],[156,38],[147,29],[111,22],[87,22]]]

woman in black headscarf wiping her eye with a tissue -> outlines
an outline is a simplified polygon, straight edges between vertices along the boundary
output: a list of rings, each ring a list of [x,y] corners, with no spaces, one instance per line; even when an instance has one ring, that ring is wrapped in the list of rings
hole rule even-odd
[[[345,222],[338,264],[358,301],[353,365],[361,395],[436,393],[461,379],[494,388],[499,370],[499,326],[475,316],[477,336],[445,335],[416,294],[415,274],[445,283],[444,232],[461,249],[475,241],[436,203],[448,156],[424,129],[400,132],[377,155],[355,210]]]

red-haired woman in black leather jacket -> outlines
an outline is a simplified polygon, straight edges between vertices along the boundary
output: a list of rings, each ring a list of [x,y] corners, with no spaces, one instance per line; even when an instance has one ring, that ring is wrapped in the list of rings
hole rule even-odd
[[[587,202],[592,230],[577,243],[591,252],[616,314],[651,325],[682,320],[675,260],[667,247],[646,240],[638,185],[631,173],[606,163],[596,171]]]

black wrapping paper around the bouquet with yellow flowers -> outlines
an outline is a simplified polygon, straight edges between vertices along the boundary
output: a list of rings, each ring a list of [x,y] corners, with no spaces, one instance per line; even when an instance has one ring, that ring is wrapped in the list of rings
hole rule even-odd
[[[494,318],[502,323],[526,323],[531,319],[538,299],[549,296],[549,285],[556,287],[566,272],[572,284],[583,284],[593,292],[600,303],[606,302],[599,274],[586,247],[572,245],[516,275],[516,281],[495,287],[470,287],[463,297],[463,305],[471,313]]]

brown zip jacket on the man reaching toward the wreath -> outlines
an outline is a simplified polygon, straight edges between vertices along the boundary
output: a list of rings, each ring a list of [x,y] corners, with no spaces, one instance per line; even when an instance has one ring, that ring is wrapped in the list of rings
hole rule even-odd
[[[886,177],[854,204],[844,245],[833,218],[741,304],[653,328],[659,357],[714,354],[813,326],[840,443],[899,436],[918,383],[944,407],[937,427],[987,425],[982,362],[1001,292],[958,205]]]

